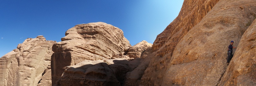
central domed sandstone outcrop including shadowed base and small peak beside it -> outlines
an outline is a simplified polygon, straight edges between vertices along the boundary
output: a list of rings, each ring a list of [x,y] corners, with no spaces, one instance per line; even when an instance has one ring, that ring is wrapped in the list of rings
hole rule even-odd
[[[52,50],[54,53],[51,57],[53,84],[62,86],[74,84],[70,82],[77,81],[80,81],[80,83],[77,83],[78,85],[92,82],[94,82],[94,85],[123,84],[125,74],[136,68],[136,66],[134,67],[132,65],[139,65],[141,63],[140,60],[143,61],[143,59],[140,59],[141,54],[142,58],[145,58],[149,52],[146,49],[152,46],[152,44],[142,41],[132,47],[129,41],[124,38],[121,29],[102,22],[76,25],[68,29],[65,35],[61,42],[53,45]],[[128,56],[140,60],[134,60],[137,63],[129,65],[128,62],[132,59],[129,59]],[[124,66],[120,66],[118,63],[106,63],[108,59],[115,58],[123,58],[122,60],[126,60],[125,63],[120,63]],[[127,59],[129,59],[129,61]],[[85,60],[91,61],[84,62]],[[119,60],[117,60],[117,62],[118,61]],[[134,63],[134,61],[131,62]],[[100,69],[97,69],[99,65]],[[113,65],[117,67],[112,67]],[[71,69],[70,67],[66,68],[66,66],[71,66]],[[88,70],[88,68],[92,70]],[[120,75],[117,71],[121,71],[122,68],[125,68],[125,71],[122,71]],[[76,72],[76,70],[84,72],[80,73]],[[89,72],[87,73],[87,71]],[[90,77],[83,79],[72,77],[71,80],[70,75]],[[67,76],[69,79],[65,79]],[[93,78],[93,81],[91,81],[91,78]]]

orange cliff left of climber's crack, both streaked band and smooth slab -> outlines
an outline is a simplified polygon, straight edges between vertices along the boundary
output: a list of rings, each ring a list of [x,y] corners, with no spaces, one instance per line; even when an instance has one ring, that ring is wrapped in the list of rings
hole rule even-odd
[[[225,59],[228,45],[231,40],[235,41],[233,46],[240,44],[256,17],[255,3],[255,0],[185,0],[179,16],[153,43],[155,57],[137,83],[218,85],[228,67]]]

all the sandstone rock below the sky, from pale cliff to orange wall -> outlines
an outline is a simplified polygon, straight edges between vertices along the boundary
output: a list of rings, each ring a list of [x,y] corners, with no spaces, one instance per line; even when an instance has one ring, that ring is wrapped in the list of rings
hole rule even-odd
[[[255,0],[184,0],[153,45],[134,46],[110,24],[79,24],[62,42],[27,39],[0,58],[0,85],[49,85],[52,77],[57,86],[254,86],[255,18]]]

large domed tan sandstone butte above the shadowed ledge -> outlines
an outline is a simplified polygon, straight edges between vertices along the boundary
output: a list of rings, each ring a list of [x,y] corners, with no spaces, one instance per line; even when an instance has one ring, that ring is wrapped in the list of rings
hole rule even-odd
[[[65,35],[62,42],[52,47],[53,84],[60,79],[66,66],[73,66],[84,60],[122,58],[125,50],[131,47],[121,29],[102,22],[76,25],[68,29]]]

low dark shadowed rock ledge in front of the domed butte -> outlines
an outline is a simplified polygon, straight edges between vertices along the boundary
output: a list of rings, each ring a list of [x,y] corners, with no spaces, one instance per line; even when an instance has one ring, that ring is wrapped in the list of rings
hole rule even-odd
[[[74,66],[67,67],[59,79],[61,86],[70,85],[124,85],[126,73],[134,70],[142,58],[126,60],[122,58],[108,60],[85,60]]]

